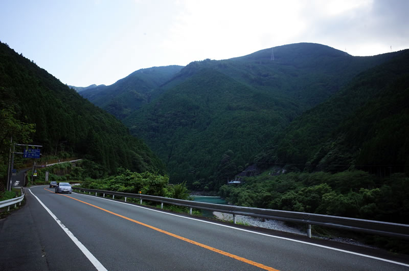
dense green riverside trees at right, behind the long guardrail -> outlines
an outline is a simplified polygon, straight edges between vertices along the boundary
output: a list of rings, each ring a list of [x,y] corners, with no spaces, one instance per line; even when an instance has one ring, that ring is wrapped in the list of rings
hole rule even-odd
[[[271,169],[270,172],[274,172]],[[364,171],[265,174],[220,196],[239,206],[318,213],[409,224],[409,177]]]

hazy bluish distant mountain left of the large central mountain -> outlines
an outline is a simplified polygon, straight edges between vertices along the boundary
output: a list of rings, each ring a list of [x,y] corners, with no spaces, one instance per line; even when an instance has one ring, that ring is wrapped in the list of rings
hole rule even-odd
[[[141,69],[106,86],[87,87],[81,95],[119,119],[148,103],[158,93],[153,89],[169,81],[182,66],[172,65]]]

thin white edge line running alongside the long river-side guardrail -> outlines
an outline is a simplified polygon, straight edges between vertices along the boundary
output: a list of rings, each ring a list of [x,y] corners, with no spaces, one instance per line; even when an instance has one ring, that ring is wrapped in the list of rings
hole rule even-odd
[[[74,192],[73,192],[73,193],[74,193]],[[154,211],[154,212],[158,212],[158,213],[163,213],[163,214],[173,215],[173,216],[177,216],[177,217],[181,217],[181,218],[196,220],[196,221],[203,222],[203,223],[214,224],[214,225],[218,225],[218,226],[220,226],[220,227],[230,228],[230,229],[234,229],[234,230],[238,230],[238,231],[243,231],[243,232],[248,232],[248,233],[259,234],[259,235],[268,236],[268,237],[273,237],[273,238],[278,238],[278,239],[287,240],[287,241],[293,241],[293,242],[297,242],[297,243],[309,244],[309,245],[313,245],[313,246],[323,247],[324,249],[328,249],[328,250],[334,250],[334,251],[339,251],[339,252],[345,252],[345,253],[348,253],[348,254],[353,254],[353,255],[357,255],[357,256],[361,256],[361,257],[371,258],[371,259],[375,259],[375,260],[380,260],[380,261],[384,261],[384,262],[390,262],[390,263],[399,264],[399,265],[403,265],[403,266],[409,267],[409,264],[405,264],[405,263],[401,263],[401,262],[396,262],[396,261],[392,261],[392,260],[388,260],[388,259],[383,259],[383,258],[378,258],[378,257],[370,256],[370,255],[361,254],[361,253],[356,253],[356,252],[352,252],[352,251],[340,250],[340,249],[336,249],[335,247],[331,247],[331,246],[326,246],[326,245],[321,245],[321,244],[314,244],[314,243],[309,243],[309,242],[305,242],[305,241],[290,239],[290,238],[286,238],[286,237],[275,236],[275,235],[271,235],[271,234],[258,233],[258,232],[254,232],[254,231],[250,231],[250,230],[235,228],[235,227],[232,227],[232,226],[229,226],[229,225],[219,224],[219,223],[216,223],[216,222],[205,221],[205,220],[200,220],[200,219],[196,219],[196,218],[193,218],[193,217],[186,217],[186,216],[181,216],[181,215],[166,213],[166,212],[163,212],[163,211],[160,211],[160,210],[154,210],[154,209],[150,209],[150,208],[146,208],[146,207],[142,207],[142,206],[138,206],[138,205],[128,204],[128,203],[126,203],[126,202],[116,201],[116,200],[112,200],[112,199],[109,199],[109,198],[96,197],[95,195],[93,196],[93,195],[80,194],[80,193],[75,193],[75,194],[84,195],[84,196],[89,196],[89,197],[94,197],[94,198],[105,199],[105,200],[109,200],[109,201],[112,201],[112,202],[117,202],[117,203],[120,203],[120,204],[125,204],[125,205],[129,205],[129,206],[133,206],[133,207],[138,207],[138,208],[142,208],[142,209],[146,209],[146,210],[150,210],[150,211]]]

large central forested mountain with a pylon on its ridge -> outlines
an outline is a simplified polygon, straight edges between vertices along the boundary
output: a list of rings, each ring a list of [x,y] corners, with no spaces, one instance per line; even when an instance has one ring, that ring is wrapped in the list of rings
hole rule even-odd
[[[123,122],[158,153],[171,182],[199,181],[202,188],[217,190],[276,145],[304,111],[395,55],[353,57],[321,44],[298,43],[228,60],[195,61]]]

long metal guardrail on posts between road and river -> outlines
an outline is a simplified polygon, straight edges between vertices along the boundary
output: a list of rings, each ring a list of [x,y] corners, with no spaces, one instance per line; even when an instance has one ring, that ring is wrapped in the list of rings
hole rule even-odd
[[[121,196],[126,198],[136,198],[140,199],[140,204],[142,200],[149,200],[155,202],[161,202],[161,207],[163,204],[171,204],[177,206],[184,206],[190,208],[190,214],[192,214],[192,208],[209,210],[214,212],[229,213],[233,214],[234,223],[236,223],[236,215],[246,215],[253,217],[262,217],[267,219],[276,219],[281,221],[289,221],[296,223],[303,223],[308,225],[308,237],[311,237],[311,225],[319,225],[322,227],[336,228],[342,230],[350,230],[356,232],[370,233],[375,235],[398,237],[403,239],[409,239],[409,225],[398,224],[391,222],[382,222],[367,219],[357,219],[349,217],[331,216],[331,215],[321,215],[312,213],[301,213],[301,212],[290,212],[290,211],[280,211],[271,209],[260,209],[260,208],[250,208],[242,206],[233,205],[221,205],[221,204],[211,204],[208,202],[199,202],[167,197],[150,196],[143,194],[131,194],[122,193],[106,190],[95,190],[95,189],[84,189],[73,187],[73,190],[84,191],[90,193],[95,193],[97,196],[99,194]]]

